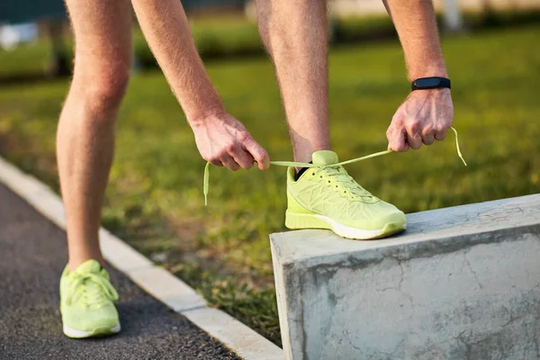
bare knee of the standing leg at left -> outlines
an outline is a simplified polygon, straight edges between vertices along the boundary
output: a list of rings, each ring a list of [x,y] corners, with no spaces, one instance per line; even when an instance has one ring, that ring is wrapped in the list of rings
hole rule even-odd
[[[102,67],[98,71],[74,74],[73,87],[86,108],[94,112],[117,111],[128,87],[130,67],[120,64]]]

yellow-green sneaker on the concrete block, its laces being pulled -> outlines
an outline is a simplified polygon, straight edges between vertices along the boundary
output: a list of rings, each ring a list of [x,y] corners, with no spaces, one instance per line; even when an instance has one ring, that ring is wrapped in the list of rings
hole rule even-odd
[[[356,183],[338,155],[329,150],[312,155],[313,165],[298,180],[295,169],[287,172],[289,229],[331,229],[343,238],[384,238],[406,228],[405,214]]]

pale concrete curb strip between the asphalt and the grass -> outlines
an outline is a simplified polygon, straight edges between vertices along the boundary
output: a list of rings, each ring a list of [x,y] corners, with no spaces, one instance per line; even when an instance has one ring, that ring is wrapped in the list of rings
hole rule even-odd
[[[58,195],[35,177],[24,174],[0,157],[0,183],[29,202],[46,218],[66,229],[64,205]],[[229,314],[211,309],[190,286],[164,268],[154,266],[148,258],[106,229],[100,229],[103,257],[146,292],[193,324],[216,338],[246,360],[281,360],[283,350],[247,328]]]

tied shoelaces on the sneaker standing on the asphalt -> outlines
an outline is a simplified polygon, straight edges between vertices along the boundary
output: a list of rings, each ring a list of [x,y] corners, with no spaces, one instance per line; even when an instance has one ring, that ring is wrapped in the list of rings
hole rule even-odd
[[[112,287],[103,276],[94,273],[85,273],[81,275],[75,275],[75,281],[69,286],[69,295],[67,296],[67,305],[71,305],[72,302],[76,302],[81,299],[88,308],[97,308],[103,304],[103,297],[115,302],[118,300],[118,293]],[[87,282],[92,282],[98,286],[96,293],[87,292],[84,286]],[[87,284],[86,284],[87,285]]]

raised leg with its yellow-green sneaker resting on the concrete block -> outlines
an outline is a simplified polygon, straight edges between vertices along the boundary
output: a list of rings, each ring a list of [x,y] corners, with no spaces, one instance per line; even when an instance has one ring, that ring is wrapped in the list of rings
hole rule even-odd
[[[405,229],[405,214],[347,175],[330,149],[325,0],[257,0],[258,22],[275,71],[294,158],[320,166],[287,171],[289,229],[332,229],[345,238],[382,238]]]

